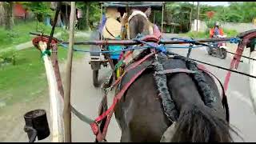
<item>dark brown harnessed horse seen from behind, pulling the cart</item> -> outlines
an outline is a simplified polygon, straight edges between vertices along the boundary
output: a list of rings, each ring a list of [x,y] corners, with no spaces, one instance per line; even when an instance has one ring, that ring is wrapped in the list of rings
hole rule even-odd
[[[149,34],[146,30],[149,25],[142,15],[131,18],[129,26],[130,38],[135,38],[137,34]],[[146,54],[149,53],[150,50],[147,50]],[[159,77],[155,68],[158,64],[162,70],[188,70],[194,64],[161,54],[152,59],[154,63],[147,66],[130,85],[114,109],[122,130],[121,142],[233,142],[230,131],[235,131],[230,127],[229,118],[226,118],[228,109],[222,106],[223,99],[214,78],[196,68],[194,77],[182,71]],[[119,90],[129,82],[132,73],[136,71],[122,78]],[[175,106],[170,109],[173,116],[166,114],[168,105],[164,105],[164,98],[161,97],[165,94],[170,94],[169,103]],[[206,102],[207,94],[211,96],[210,105]],[[102,99],[102,107],[100,114],[107,108],[106,98]],[[103,125],[104,121],[101,129]]]

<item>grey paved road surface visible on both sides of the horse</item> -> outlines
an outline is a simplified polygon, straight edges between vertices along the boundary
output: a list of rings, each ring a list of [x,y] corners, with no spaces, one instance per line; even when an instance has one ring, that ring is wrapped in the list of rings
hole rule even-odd
[[[186,55],[186,50],[174,50],[175,52]],[[204,62],[210,62],[218,66],[229,67],[230,57],[226,60],[210,57],[203,49],[193,50],[191,54],[192,58]],[[90,118],[96,118],[98,115],[98,105],[102,98],[102,91],[98,88],[94,88],[92,85],[92,70],[88,64],[89,57],[85,56],[84,59],[78,62],[74,62],[72,70],[72,105],[82,112],[90,116]],[[210,69],[218,78],[224,82],[226,75],[225,70],[218,70],[210,66],[206,66]],[[249,66],[246,63],[242,63],[239,66],[239,70],[248,72]],[[106,75],[110,73],[110,68],[103,68],[100,70],[99,78],[104,79]],[[250,91],[248,78],[238,74],[232,74],[230,78],[230,86],[227,91],[227,97],[230,104],[230,122],[232,126],[238,128],[239,134],[244,138],[245,142],[256,142],[255,137],[255,124],[256,115],[250,102]],[[112,102],[113,94],[109,97],[109,105]],[[73,142],[94,142],[94,134],[90,130],[90,126],[81,122],[78,118],[72,114],[72,134]],[[23,123],[22,123],[23,125]],[[118,124],[113,117],[106,139],[108,142],[119,142],[121,131]],[[237,137],[234,137],[235,142],[241,142]],[[48,140],[45,140],[48,141]],[[26,134],[23,134],[19,142],[26,142]]]

